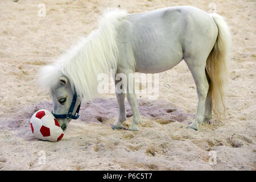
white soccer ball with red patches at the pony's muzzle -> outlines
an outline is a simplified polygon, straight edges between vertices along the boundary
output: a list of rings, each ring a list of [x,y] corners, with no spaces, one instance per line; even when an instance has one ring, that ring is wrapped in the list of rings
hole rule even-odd
[[[64,135],[57,119],[46,109],[38,110],[32,115],[30,126],[34,137],[41,140],[57,142]]]

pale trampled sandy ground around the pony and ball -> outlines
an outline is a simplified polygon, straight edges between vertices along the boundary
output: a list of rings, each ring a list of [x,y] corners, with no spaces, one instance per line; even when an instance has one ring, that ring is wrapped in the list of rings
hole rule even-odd
[[[46,16],[38,16],[39,3]],[[82,102],[81,118],[71,121],[62,140],[32,136],[29,122],[51,100],[36,83],[36,72],[97,28],[106,7],[139,13],[192,5],[225,16],[233,38],[228,118],[212,119],[200,131],[187,126],[196,113],[197,95],[184,61],[160,73],[157,101],[139,98],[140,131],[112,130],[117,119],[114,94]],[[22,170],[255,170],[255,1],[34,1],[0,2],[0,169]],[[168,85],[167,85],[168,84]],[[150,108],[150,109],[148,109]],[[106,109],[108,111],[106,111]],[[127,106],[127,111],[130,107]],[[129,117],[125,127],[129,127]],[[39,151],[46,153],[40,164]],[[210,164],[209,152],[217,164]],[[211,154],[211,153],[210,153]]]

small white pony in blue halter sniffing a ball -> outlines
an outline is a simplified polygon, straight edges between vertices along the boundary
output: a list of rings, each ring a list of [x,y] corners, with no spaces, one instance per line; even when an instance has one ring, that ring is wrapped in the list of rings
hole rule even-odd
[[[110,69],[125,75],[159,73],[184,60],[199,98],[196,118],[189,125],[197,130],[201,122],[212,118],[212,110],[217,115],[225,114],[229,48],[229,28],[218,14],[208,14],[192,6],[137,14],[115,9],[102,16],[97,30],[55,63],[43,67],[40,80],[49,88],[52,113],[65,130],[72,118],[79,117],[81,100],[96,96],[98,74]],[[133,112],[130,130],[138,130],[142,120],[134,92],[116,93],[119,115],[113,129],[121,129],[126,121],[125,95]]]

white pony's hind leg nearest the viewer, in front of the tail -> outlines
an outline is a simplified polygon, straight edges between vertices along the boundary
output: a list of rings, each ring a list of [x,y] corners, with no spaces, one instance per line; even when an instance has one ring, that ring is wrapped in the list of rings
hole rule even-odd
[[[195,120],[189,125],[189,128],[198,130],[199,124],[204,120],[204,110],[205,110],[205,100],[207,98],[207,93],[209,89],[209,84],[207,81],[207,77],[205,75],[205,59],[195,59],[192,57],[188,57],[184,59],[188,65],[189,70],[192,73],[193,79],[196,84],[197,96],[199,98],[197,105],[197,112]]]

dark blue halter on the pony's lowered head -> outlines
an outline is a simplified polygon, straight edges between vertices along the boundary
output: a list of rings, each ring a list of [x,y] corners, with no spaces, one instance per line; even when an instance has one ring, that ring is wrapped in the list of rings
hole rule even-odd
[[[71,103],[71,106],[69,107],[68,113],[67,114],[54,114],[52,111],[52,114],[55,118],[71,118],[71,119],[78,119],[79,118],[79,110],[80,110],[80,105],[81,105],[81,101],[79,106],[77,106],[76,112],[73,115],[73,110],[75,108],[76,105],[76,100],[77,100],[77,93],[76,90],[74,89],[74,94],[73,94],[73,100]]]

